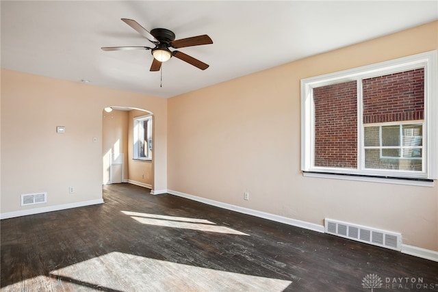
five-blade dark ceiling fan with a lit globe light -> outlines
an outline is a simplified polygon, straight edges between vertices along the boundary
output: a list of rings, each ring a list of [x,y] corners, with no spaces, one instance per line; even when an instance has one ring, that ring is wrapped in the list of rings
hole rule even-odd
[[[122,18],[122,21],[138,31],[139,34],[147,38],[150,42],[155,44],[155,47],[102,47],[101,49],[103,51],[151,50],[153,55],[151,71],[159,71],[159,69],[162,67],[162,63],[168,61],[170,57],[177,57],[178,59],[200,68],[201,70],[205,70],[209,67],[208,64],[205,64],[204,62],[201,62],[190,55],[180,51],[170,51],[169,49],[200,46],[201,44],[213,44],[211,38],[206,34],[202,36],[192,36],[191,38],[175,40],[175,34],[168,29],[156,28],[149,32],[132,19]]]

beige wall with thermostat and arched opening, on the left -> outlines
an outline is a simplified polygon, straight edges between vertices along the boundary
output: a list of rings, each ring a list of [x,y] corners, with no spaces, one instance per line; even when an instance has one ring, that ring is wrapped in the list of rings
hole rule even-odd
[[[108,106],[153,112],[153,187],[166,189],[166,99],[1,70],[2,214],[102,198],[102,110]],[[56,126],[66,133],[57,134]],[[21,194],[40,191],[47,191],[47,204],[20,206]]]

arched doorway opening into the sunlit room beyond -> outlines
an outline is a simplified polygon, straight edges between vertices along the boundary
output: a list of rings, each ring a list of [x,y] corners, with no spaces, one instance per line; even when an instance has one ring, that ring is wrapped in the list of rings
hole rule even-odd
[[[153,189],[153,113],[120,106],[102,112],[103,185],[132,183]]]

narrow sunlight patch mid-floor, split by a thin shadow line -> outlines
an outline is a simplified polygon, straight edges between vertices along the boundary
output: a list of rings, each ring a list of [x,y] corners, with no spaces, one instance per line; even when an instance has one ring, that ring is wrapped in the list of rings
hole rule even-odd
[[[166,215],[157,215],[149,213],[138,213],[130,211],[122,211],[125,215],[129,215],[133,220],[142,224],[154,226],[172,227],[206,231],[212,233],[227,233],[232,235],[248,235],[240,231],[234,230],[225,226],[218,226],[214,222],[205,219],[189,218],[189,217],[173,217]]]

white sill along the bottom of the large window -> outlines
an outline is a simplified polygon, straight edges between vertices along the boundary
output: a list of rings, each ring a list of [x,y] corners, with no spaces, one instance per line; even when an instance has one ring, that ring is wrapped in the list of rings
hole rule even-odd
[[[315,178],[331,178],[345,181],[368,181],[372,183],[390,183],[393,185],[415,185],[418,187],[433,187],[434,181],[429,179],[414,178],[386,178],[379,176],[362,176],[352,174],[333,174],[324,172],[302,172],[303,176]]]

